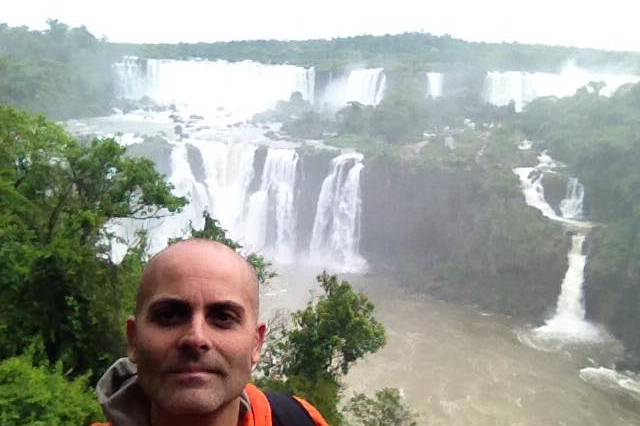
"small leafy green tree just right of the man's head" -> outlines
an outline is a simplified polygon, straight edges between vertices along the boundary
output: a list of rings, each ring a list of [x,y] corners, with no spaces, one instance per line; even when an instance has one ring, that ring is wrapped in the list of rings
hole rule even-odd
[[[260,383],[305,397],[329,423],[341,424],[341,377],[356,360],[384,346],[386,337],[364,294],[326,272],[317,279],[324,294],[292,315],[291,328],[270,334]]]

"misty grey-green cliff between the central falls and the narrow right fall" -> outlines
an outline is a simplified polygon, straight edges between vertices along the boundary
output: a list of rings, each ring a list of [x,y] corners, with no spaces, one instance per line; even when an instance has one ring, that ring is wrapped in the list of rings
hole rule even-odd
[[[504,181],[504,193],[496,183]],[[438,298],[541,322],[554,309],[568,239],[527,207],[515,177],[369,161],[361,253],[372,269]]]

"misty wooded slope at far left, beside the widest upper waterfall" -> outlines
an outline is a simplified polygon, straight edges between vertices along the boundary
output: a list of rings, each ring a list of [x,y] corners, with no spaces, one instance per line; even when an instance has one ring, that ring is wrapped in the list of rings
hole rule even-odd
[[[86,28],[55,20],[31,31],[0,23],[0,103],[54,119],[106,114],[115,59]]]

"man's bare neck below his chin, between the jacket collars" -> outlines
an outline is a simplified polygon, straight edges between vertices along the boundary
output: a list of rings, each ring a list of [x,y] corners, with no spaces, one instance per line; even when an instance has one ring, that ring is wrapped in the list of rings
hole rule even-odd
[[[174,415],[155,404],[151,406],[151,426],[237,426],[240,398],[207,414]]]

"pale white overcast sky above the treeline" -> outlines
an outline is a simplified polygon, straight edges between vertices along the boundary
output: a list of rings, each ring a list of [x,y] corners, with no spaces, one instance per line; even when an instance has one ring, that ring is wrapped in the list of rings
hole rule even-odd
[[[638,4],[638,6],[636,6]],[[0,0],[0,22],[85,25],[111,41],[332,38],[424,31],[640,51],[637,0]]]

